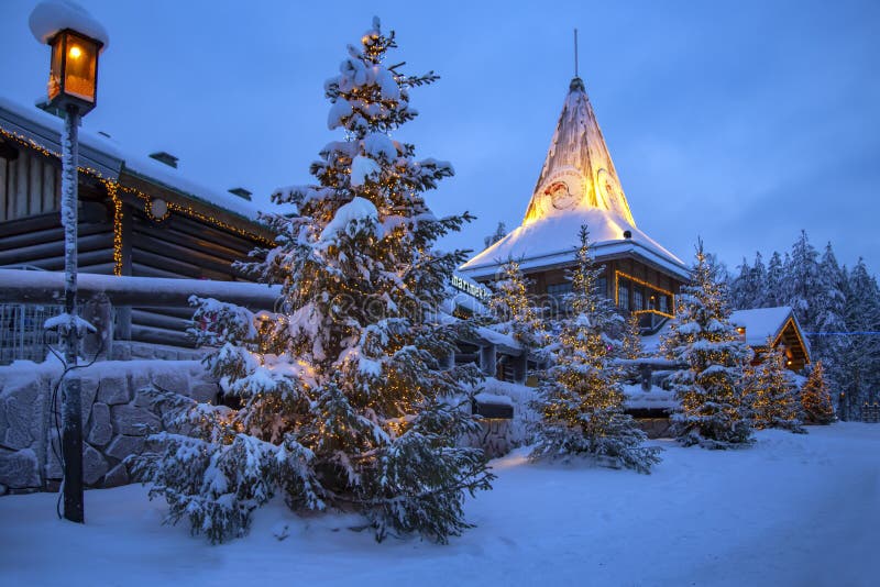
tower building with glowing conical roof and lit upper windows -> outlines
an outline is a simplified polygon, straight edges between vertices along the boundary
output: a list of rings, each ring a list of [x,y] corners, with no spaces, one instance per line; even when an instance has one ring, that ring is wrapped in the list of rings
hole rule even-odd
[[[571,290],[582,225],[596,261],[605,266],[600,287],[623,313],[642,315],[656,331],[675,311],[689,279],[684,263],[636,226],[583,81],[575,77],[521,225],[460,267],[479,283],[495,279],[501,265],[519,262],[532,294],[550,306]]]

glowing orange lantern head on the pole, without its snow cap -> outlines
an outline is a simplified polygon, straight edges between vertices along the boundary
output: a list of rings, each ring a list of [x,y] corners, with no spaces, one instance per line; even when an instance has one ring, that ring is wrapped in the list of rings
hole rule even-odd
[[[95,107],[98,89],[98,52],[101,43],[70,30],[52,40],[48,99],[57,106]]]

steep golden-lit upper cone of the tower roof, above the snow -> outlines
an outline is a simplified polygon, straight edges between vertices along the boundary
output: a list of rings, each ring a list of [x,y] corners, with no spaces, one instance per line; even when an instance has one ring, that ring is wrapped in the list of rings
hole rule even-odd
[[[569,86],[522,224],[576,209],[608,211],[636,226],[580,77],[572,79]]]

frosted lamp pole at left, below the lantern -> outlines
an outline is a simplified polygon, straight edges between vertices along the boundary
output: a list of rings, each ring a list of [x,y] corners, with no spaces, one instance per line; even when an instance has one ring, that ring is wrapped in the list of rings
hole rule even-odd
[[[64,361],[67,368],[77,362],[76,275],[77,275],[77,132],[79,109],[68,106],[62,134],[62,225],[64,226],[64,300],[70,318],[64,331]],[[62,395],[62,455],[64,457],[64,517],[82,523],[82,407],[80,383],[75,370],[64,379]]]

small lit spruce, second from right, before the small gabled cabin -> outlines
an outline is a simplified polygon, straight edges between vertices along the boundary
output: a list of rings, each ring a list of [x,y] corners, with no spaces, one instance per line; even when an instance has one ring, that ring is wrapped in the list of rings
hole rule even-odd
[[[747,378],[746,394],[751,400],[752,425],[757,429],[784,428],[792,432],[805,432],[801,425],[798,384],[785,368],[785,361],[782,348],[771,350]]]

